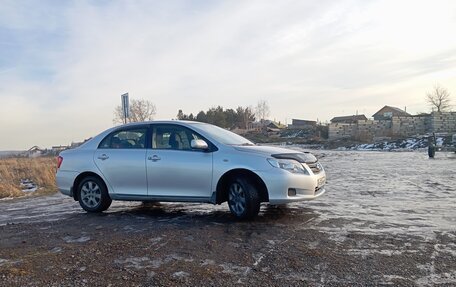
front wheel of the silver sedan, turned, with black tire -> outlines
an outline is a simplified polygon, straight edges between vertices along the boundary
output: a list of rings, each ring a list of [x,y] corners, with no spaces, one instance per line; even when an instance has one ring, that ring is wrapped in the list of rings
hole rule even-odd
[[[237,219],[253,219],[260,212],[258,188],[246,177],[234,177],[227,187],[228,206]]]

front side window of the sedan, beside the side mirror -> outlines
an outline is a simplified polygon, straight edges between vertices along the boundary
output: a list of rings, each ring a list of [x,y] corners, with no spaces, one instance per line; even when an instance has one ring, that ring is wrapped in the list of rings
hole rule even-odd
[[[186,127],[157,125],[153,128],[152,149],[192,150],[193,139],[201,137]]]

